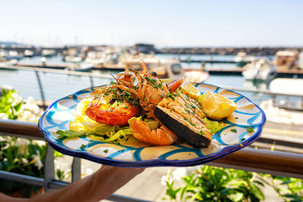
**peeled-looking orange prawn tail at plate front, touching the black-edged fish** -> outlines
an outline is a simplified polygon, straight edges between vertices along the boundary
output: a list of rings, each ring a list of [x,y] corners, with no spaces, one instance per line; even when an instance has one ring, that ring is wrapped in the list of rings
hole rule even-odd
[[[171,132],[164,125],[160,128],[150,130],[145,122],[140,121],[137,118],[131,118],[128,120],[128,123],[132,135],[146,144],[161,146],[170,145],[178,139],[175,133]]]

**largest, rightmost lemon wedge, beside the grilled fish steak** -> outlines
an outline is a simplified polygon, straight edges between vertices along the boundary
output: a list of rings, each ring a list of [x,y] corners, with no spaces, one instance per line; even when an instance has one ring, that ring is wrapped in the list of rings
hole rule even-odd
[[[208,92],[202,101],[202,109],[209,118],[221,119],[231,115],[237,108],[234,101],[218,93]]]

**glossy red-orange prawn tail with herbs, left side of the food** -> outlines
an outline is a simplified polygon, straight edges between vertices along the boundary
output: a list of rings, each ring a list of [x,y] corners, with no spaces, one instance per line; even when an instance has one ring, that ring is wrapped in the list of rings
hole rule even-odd
[[[108,109],[100,110],[102,98],[94,98],[88,105],[85,114],[92,120],[109,125],[126,125],[128,119],[137,117],[140,114],[138,106],[124,101],[115,108],[108,107]]]

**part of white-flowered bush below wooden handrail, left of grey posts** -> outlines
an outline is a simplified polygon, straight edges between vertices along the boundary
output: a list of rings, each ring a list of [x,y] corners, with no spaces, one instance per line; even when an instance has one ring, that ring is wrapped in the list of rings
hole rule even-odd
[[[0,136],[0,170],[44,177],[43,160],[46,147],[43,141]],[[10,194],[23,188],[22,197],[30,197],[32,191],[37,193],[39,186],[0,179],[0,191]]]

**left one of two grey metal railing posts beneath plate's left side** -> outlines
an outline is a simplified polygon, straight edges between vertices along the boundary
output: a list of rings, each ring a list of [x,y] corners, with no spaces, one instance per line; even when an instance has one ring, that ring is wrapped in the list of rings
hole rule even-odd
[[[44,191],[48,192],[53,189],[48,188],[48,183],[55,179],[54,149],[48,144],[44,160]]]

